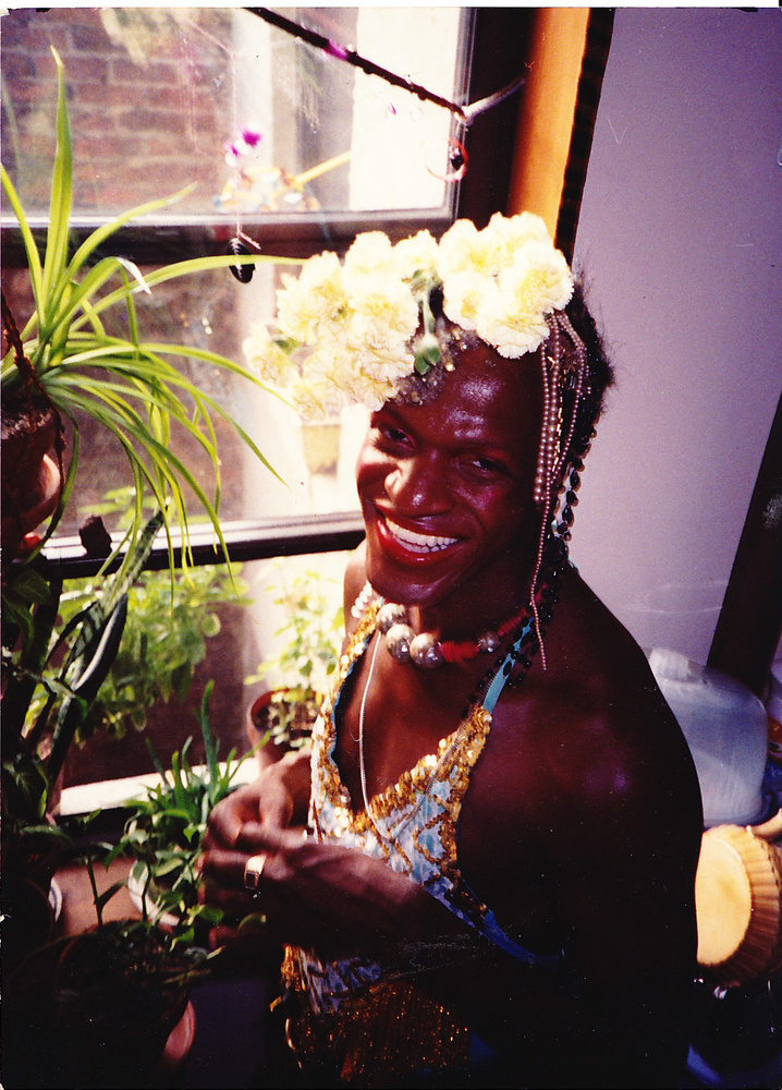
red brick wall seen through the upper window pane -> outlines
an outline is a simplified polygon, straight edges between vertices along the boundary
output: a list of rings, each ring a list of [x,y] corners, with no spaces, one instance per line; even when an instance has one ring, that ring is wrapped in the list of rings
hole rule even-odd
[[[119,15],[77,8],[2,17],[3,161],[25,206],[44,210],[48,195],[53,46],[65,65],[75,208],[123,211],[196,181],[178,208],[210,210],[225,180],[232,125],[230,10],[199,10],[197,31],[175,10],[127,10],[122,40],[107,17]],[[154,39],[145,39],[150,20]]]

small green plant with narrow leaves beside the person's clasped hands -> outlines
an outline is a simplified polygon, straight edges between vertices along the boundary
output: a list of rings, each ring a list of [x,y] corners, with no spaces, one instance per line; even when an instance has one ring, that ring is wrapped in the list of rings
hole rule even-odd
[[[146,798],[132,804],[131,816],[113,852],[134,860],[131,874],[139,891],[143,911],[147,912],[152,903],[156,918],[172,919],[176,933],[188,942],[194,940],[197,924],[212,925],[222,916],[219,909],[198,903],[196,861],[209,814],[233,790],[242,763],[236,760],[235,750],[231,750],[224,763],[219,761],[220,743],[209,723],[212,688],[210,681],[198,714],[205,765],[199,768],[190,762],[192,737],[181,752],[172,755],[168,771],[148,741],[160,782],[147,789]]]

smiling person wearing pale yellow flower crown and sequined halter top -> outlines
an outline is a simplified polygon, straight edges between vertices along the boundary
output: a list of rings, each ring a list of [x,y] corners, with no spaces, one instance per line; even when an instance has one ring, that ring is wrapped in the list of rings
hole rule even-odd
[[[268,377],[372,410],[366,540],[311,754],[212,814],[205,896],[265,918],[218,941],[284,945],[304,1085],[677,1086],[700,798],[567,559],[611,371],[564,257],[529,214],[372,232],[278,320]]]

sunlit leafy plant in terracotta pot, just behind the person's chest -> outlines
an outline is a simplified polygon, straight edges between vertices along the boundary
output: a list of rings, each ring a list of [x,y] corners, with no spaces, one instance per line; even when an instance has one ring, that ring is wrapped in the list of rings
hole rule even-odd
[[[251,742],[262,746],[261,765],[307,743],[339,662],[343,629],[342,607],[333,604],[339,591],[334,580],[306,569],[286,586],[277,567],[283,590],[273,602],[285,619],[274,635],[283,642],[277,655],[246,678],[247,685],[269,686],[254,699],[247,720]]]

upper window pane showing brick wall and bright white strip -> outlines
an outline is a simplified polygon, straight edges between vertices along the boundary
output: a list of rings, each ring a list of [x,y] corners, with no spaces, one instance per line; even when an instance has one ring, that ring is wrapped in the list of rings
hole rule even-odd
[[[279,11],[460,100],[463,9]],[[47,209],[50,47],[65,68],[76,215],[190,185],[157,218],[450,208],[447,109],[246,10],[24,9],[2,31],[3,158],[30,214]]]

